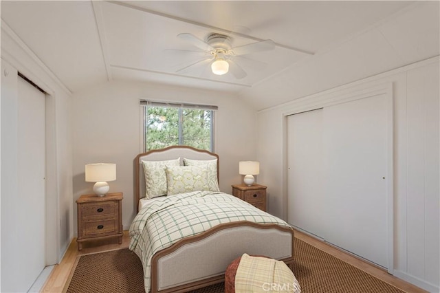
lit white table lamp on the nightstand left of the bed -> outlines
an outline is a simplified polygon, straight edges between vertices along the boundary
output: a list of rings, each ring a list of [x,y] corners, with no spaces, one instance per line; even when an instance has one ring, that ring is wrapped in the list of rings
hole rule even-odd
[[[85,181],[96,182],[94,192],[98,196],[104,196],[109,192],[110,186],[107,181],[116,180],[116,164],[95,163],[85,165]]]

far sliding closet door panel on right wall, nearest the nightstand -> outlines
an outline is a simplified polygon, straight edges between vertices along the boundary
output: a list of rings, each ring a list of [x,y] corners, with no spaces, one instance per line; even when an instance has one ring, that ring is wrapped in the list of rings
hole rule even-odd
[[[322,237],[322,109],[288,116],[287,133],[287,222]]]

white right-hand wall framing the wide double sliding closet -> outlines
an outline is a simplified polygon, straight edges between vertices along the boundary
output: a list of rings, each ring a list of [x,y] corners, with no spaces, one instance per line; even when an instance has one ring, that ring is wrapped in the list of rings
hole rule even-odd
[[[285,219],[289,109],[300,100],[384,83],[393,83],[395,111],[394,274],[439,292],[439,57],[259,111],[260,182],[268,186],[270,213]]]

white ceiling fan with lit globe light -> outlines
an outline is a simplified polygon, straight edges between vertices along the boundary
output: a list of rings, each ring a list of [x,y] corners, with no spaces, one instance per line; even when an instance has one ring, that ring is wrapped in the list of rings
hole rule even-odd
[[[197,36],[189,33],[178,34],[177,36],[184,41],[188,41],[188,43],[194,45],[195,47],[198,47],[202,50],[201,53],[205,54],[201,60],[178,69],[177,72],[184,71],[190,67],[196,67],[197,65],[209,64],[213,74],[223,75],[231,72],[232,75],[234,75],[234,77],[237,79],[245,78],[245,76],[248,75],[241,65],[239,65],[239,63],[243,63],[243,65],[246,65],[252,69],[261,69],[266,65],[261,61],[245,58],[243,55],[274,50],[276,46],[274,41],[265,40],[239,47],[233,47],[230,36],[217,33],[208,35],[206,41],[203,41],[197,38]]]

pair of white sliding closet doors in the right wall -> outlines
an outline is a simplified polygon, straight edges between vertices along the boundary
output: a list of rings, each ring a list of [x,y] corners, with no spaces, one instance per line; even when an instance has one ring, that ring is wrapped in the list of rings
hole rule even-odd
[[[287,221],[384,268],[392,180],[386,95],[287,117]]]

